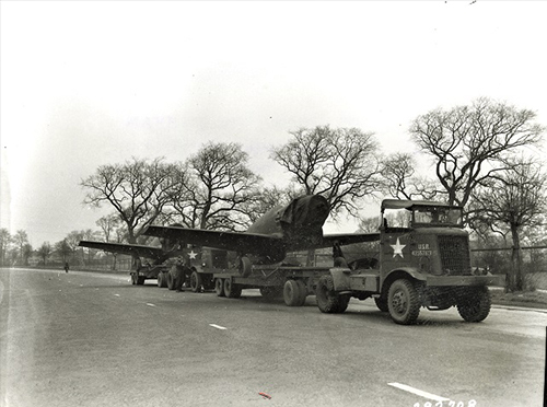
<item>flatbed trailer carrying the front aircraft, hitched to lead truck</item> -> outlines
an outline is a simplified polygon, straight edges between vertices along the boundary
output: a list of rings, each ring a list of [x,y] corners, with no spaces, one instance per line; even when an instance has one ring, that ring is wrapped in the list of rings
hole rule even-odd
[[[328,275],[329,267],[253,266],[248,277],[236,269],[212,274],[218,296],[240,298],[244,289],[259,289],[266,298],[282,296],[288,306],[302,306],[307,295],[315,294],[317,281]]]

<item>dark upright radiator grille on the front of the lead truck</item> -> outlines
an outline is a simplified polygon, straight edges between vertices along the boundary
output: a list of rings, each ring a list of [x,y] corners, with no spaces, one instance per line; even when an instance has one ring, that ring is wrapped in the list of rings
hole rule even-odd
[[[467,236],[438,236],[443,274],[470,275],[469,242]]]

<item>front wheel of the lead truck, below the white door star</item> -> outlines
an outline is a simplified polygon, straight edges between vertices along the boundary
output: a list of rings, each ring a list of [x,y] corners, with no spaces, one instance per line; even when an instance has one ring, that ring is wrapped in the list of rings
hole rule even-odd
[[[395,280],[389,286],[387,306],[396,324],[410,325],[420,314],[420,296],[414,283],[407,279]]]

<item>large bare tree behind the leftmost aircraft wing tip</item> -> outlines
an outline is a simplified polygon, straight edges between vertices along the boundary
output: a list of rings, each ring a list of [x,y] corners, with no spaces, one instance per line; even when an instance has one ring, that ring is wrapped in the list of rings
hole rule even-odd
[[[125,164],[100,166],[83,179],[88,189],[84,203],[101,207],[109,203],[127,225],[128,242],[137,237],[161,213],[171,189],[172,165],[163,159],[127,161]]]

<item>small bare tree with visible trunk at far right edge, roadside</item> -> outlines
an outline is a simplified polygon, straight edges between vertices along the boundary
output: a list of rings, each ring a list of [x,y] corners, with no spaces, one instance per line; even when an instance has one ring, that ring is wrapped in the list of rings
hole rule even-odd
[[[547,210],[547,175],[539,164],[520,160],[510,171],[498,173],[484,181],[473,191],[469,219],[472,224],[482,224],[501,234],[510,233],[512,271],[508,275],[508,289],[522,291],[524,270],[521,233],[523,228],[539,226]]]

